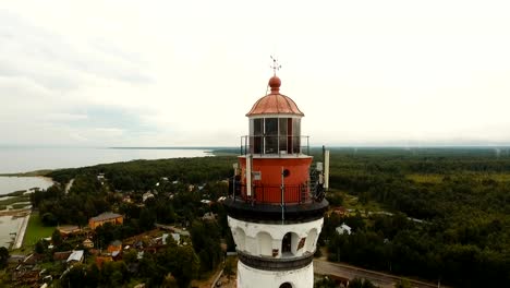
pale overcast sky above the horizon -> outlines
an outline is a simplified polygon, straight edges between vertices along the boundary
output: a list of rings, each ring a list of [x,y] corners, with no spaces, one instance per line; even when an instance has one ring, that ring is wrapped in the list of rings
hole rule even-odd
[[[270,55],[313,145],[510,144],[509,15],[486,0],[1,1],[0,145],[235,146]]]

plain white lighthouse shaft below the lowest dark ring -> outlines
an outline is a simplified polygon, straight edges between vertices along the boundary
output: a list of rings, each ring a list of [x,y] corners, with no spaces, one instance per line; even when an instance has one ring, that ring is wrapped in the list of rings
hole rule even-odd
[[[314,287],[314,263],[292,271],[263,271],[238,262],[238,287],[279,288],[284,283],[290,284],[292,288]]]

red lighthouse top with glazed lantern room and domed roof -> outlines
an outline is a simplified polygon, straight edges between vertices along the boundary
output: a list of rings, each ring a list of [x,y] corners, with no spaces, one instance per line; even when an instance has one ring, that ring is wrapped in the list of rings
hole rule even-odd
[[[288,96],[280,94],[281,80],[269,80],[270,93],[246,113],[250,134],[243,136],[241,196],[260,204],[301,204],[311,200],[312,157],[307,136],[301,135],[304,113]]]

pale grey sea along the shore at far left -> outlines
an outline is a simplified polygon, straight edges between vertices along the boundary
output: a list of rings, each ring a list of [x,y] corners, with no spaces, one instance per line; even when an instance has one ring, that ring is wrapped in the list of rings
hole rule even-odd
[[[75,168],[129,161],[136,159],[166,159],[211,156],[210,148],[109,148],[109,147],[0,147],[0,175],[12,175],[42,169]],[[51,179],[44,177],[0,176],[0,201],[5,194],[47,189]],[[0,247],[9,247],[14,233],[20,232],[23,218],[0,216]]]

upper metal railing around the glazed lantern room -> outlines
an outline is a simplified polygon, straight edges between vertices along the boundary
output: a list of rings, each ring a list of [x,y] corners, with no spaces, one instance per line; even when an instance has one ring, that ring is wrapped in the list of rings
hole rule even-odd
[[[309,136],[244,135],[241,155],[309,155]]]

